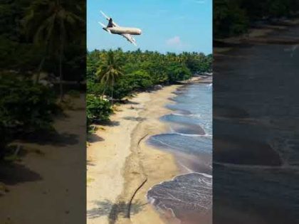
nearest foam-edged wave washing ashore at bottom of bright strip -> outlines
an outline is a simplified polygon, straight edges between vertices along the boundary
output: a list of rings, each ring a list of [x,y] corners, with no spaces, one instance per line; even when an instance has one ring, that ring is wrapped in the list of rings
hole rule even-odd
[[[171,210],[176,218],[186,210],[204,213],[212,206],[212,176],[194,172],[178,175],[150,188],[146,197],[160,213]]]

